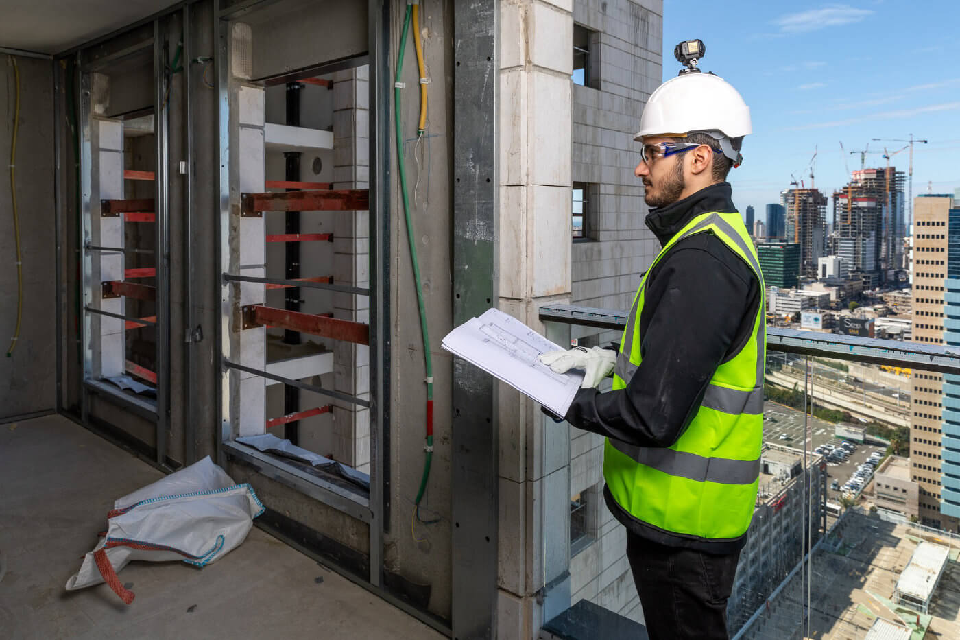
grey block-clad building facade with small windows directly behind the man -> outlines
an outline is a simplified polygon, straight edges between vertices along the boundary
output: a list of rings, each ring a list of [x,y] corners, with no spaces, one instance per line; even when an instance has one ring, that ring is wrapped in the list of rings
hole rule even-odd
[[[596,32],[594,81],[573,85],[573,171],[594,185],[589,239],[573,243],[573,304],[629,308],[640,274],[660,251],[643,222],[649,208],[634,175],[634,134],[662,75],[662,0],[574,0],[573,20]],[[617,332],[573,329],[581,344],[619,341]],[[635,620],[642,611],[626,556],[626,529],[603,501],[603,438],[570,429],[570,495],[587,501],[593,541],[570,559],[570,603],[587,599]]]

